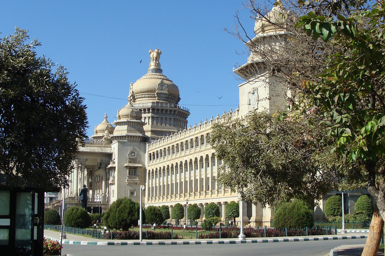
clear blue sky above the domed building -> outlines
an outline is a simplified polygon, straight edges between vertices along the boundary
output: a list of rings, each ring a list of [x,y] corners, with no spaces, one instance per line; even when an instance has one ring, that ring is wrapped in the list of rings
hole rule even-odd
[[[193,126],[239,103],[233,67],[247,55],[237,54],[245,46],[224,27],[232,29],[243,1],[3,1],[0,36],[15,26],[28,29],[42,43],[38,54],[67,68],[85,97],[89,136],[104,112],[111,123],[116,119],[130,82],[147,71],[148,50],[159,48],[163,74],[179,87],[179,104],[189,108]],[[241,11],[241,18],[253,36],[250,12]]]

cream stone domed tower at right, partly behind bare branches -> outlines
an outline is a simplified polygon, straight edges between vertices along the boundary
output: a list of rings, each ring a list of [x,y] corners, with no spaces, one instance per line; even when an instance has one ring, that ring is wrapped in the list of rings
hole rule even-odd
[[[266,65],[265,59],[268,56],[280,61],[282,49],[290,35],[287,26],[292,22],[291,17],[292,13],[282,6],[281,0],[277,0],[269,13],[256,18],[256,35],[246,42],[250,49],[247,63],[234,69],[245,80],[239,85],[240,115],[244,116],[255,109],[275,111],[287,108],[287,84]]]

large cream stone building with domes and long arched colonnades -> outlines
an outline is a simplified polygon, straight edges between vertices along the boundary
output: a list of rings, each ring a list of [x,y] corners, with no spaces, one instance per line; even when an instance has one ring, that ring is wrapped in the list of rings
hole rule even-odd
[[[268,16],[273,19],[284,11],[278,5]],[[284,44],[285,20],[276,23],[280,25],[257,19],[256,36],[246,45],[272,41],[278,46]],[[163,74],[161,51],[149,53],[147,73],[130,84],[128,103],[117,111],[117,120],[111,124],[105,114],[95,126],[95,134],[80,148],[69,177],[70,187],[65,190],[66,202],[68,206],[80,205],[79,190],[86,184],[91,198],[88,211],[104,212],[117,198],[127,196],[139,201],[139,189],[144,185],[145,207],[167,205],[171,212],[175,203],[197,204],[203,218],[205,205],[215,202],[225,220],[226,204],[239,199],[216,179],[221,160],[210,146],[210,133],[221,117],[187,128],[189,111],[178,105],[179,89]],[[240,107],[226,114],[243,118],[250,110],[287,107],[286,84],[269,75],[259,56],[252,53],[234,72],[244,79],[239,85]],[[273,217],[271,208],[248,202],[243,203],[243,212],[244,222],[250,225],[270,225]]]

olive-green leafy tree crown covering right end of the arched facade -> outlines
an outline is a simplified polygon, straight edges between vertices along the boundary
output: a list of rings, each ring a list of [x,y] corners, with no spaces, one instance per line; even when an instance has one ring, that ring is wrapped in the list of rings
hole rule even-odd
[[[315,154],[320,148],[309,139],[313,135],[309,130],[285,111],[252,112],[247,125],[224,116],[211,133],[216,155],[224,163],[218,181],[253,204],[275,207],[298,198],[313,205],[335,187],[331,177],[337,167],[330,153]],[[316,135],[318,130],[312,132]]]

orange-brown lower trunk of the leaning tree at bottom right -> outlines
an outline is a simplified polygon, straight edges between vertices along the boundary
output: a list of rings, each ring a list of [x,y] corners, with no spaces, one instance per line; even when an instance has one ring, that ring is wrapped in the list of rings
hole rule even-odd
[[[363,248],[361,256],[375,256],[377,255],[381,235],[383,232],[383,220],[378,213],[377,207],[371,218],[369,234],[367,235],[365,247]]]

